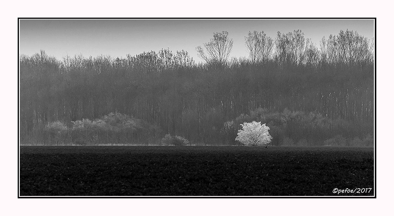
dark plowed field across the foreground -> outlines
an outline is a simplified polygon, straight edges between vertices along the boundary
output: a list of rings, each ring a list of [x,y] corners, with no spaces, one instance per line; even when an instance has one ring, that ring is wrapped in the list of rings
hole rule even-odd
[[[374,195],[374,149],[20,146],[20,196]]]

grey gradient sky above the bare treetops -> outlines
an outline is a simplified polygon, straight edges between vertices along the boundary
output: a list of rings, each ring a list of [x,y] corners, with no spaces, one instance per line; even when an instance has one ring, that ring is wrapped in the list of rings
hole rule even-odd
[[[338,35],[341,29],[375,37],[372,19],[262,19],[262,20],[19,20],[19,54],[33,55],[44,50],[59,60],[66,55],[84,57],[110,55],[126,57],[149,51],[185,50],[195,62],[202,61],[195,48],[213,38],[215,32],[227,31],[234,41],[230,57],[248,57],[245,36],[249,31],[264,31],[275,38],[277,32],[301,29],[316,46],[323,36]]]

